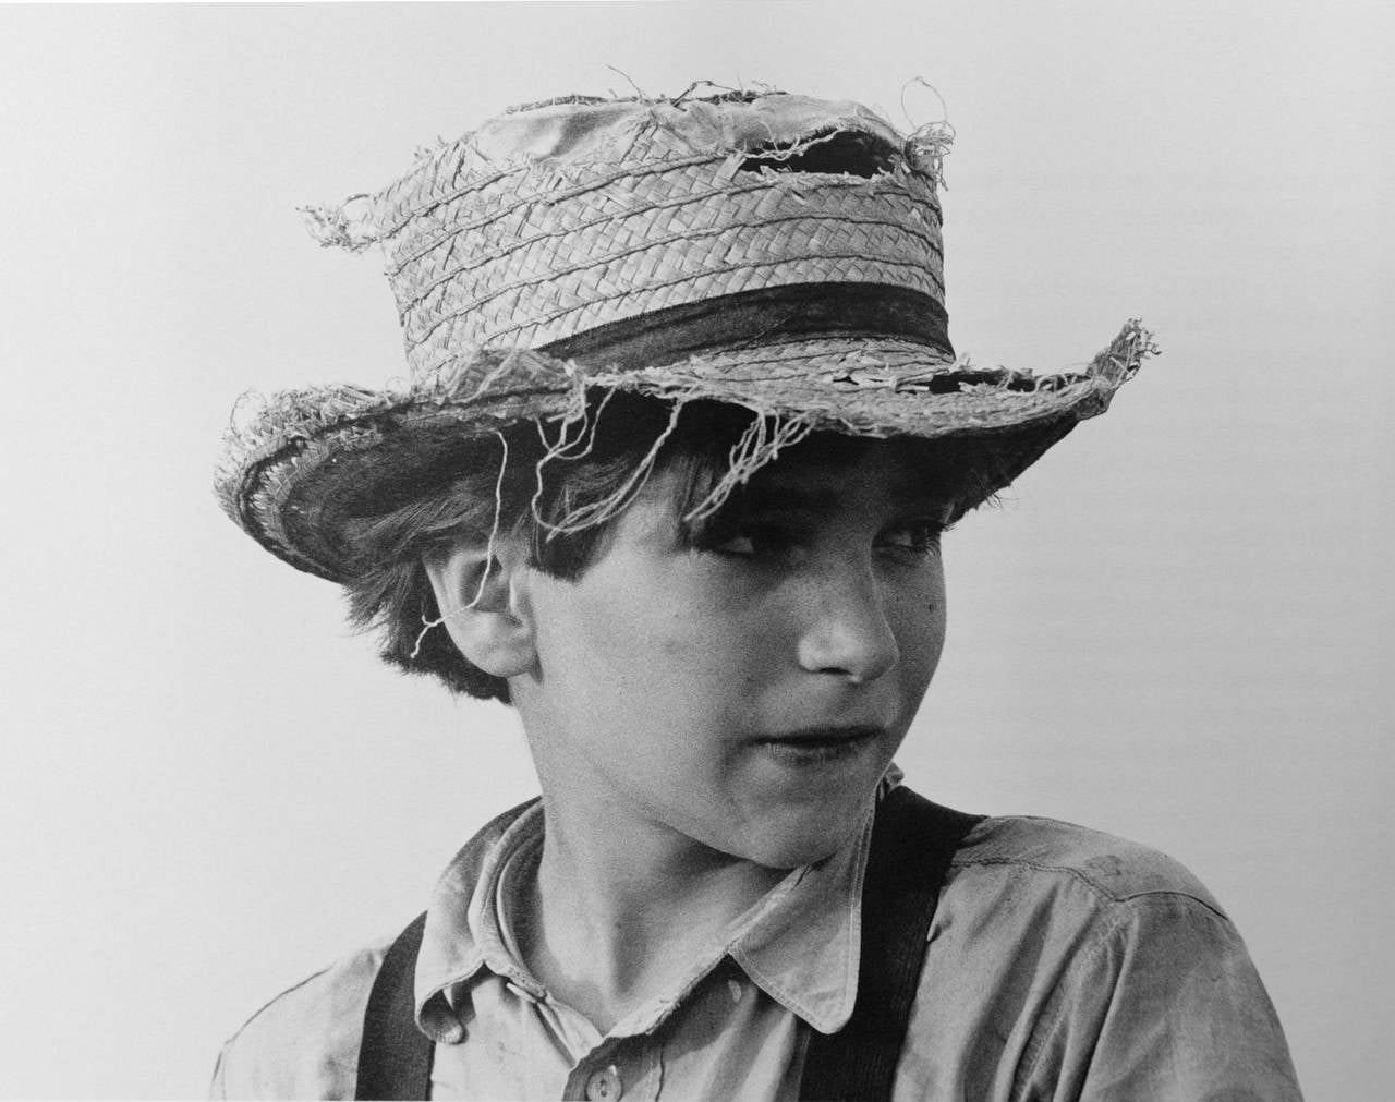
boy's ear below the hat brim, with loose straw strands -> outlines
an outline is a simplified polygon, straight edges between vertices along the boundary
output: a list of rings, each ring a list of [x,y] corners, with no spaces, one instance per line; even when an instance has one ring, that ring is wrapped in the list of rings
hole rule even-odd
[[[469,661],[499,678],[534,667],[533,622],[520,597],[519,573],[527,569],[522,548],[498,540],[492,547],[466,543],[421,559],[435,593],[441,626]]]

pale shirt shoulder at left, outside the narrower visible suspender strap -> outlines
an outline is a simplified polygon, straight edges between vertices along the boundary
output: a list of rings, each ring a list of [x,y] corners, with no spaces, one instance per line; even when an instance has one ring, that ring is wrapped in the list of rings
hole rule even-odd
[[[212,1098],[353,1098],[368,992],[392,936],[287,988],[219,1053]]]

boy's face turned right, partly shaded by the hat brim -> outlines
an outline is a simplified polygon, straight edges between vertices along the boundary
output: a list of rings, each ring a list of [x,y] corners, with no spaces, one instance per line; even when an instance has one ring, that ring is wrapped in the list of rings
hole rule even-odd
[[[944,642],[940,501],[886,444],[762,470],[688,547],[668,476],[576,582],[527,573],[511,681],[559,808],[771,868],[861,826]]]

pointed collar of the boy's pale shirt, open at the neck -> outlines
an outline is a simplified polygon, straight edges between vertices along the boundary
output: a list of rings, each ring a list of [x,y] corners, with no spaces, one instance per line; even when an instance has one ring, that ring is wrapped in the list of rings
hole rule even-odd
[[[900,780],[893,767],[879,792]],[[508,951],[499,929],[497,891],[511,856],[536,845],[543,831],[540,801],[529,801],[494,819],[446,868],[427,908],[417,957],[417,1024],[435,1041],[465,1036],[455,1009],[485,969],[533,997],[544,992]],[[791,1013],[819,1032],[841,1029],[857,1000],[862,937],[862,877],[872,841],[872,815],[837,852],[794,869],[746,914],[710,958],[693,968],[675,992],[639,1007],[612,1035],[657,1028],[686,995],[724,958]],[[460,1010],[465,1010],[462,1006]]]

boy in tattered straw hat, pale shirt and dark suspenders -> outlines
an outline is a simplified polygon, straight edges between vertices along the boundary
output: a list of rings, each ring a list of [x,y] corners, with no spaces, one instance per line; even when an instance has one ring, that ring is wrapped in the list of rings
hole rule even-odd
[[[689,89],[693,91],[693,89]],[[922,801],[943,530],[1151,352],[957,364],[937,128],[780,93],[518,109],[314,212],[412,382],[236,430],[230,515],[512,703],[541,801],[279,996],[220,1096],[1297,1098],[1166,858]]]

